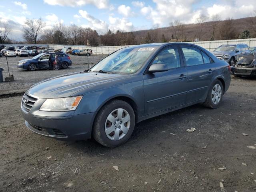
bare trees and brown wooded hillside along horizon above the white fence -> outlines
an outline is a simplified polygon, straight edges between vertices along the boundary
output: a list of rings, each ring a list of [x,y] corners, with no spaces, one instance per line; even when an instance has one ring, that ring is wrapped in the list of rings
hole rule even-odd
[[[72,44],[90,46],[133,45],[155,42],[188,42],[204,40],[228,40],[256,37],[256,12],[254,16],[245,18],[246,28],[238,29],[236,21],[226,18],[221,21],[218,14],[208,18],[201,14],[195,24],[184,24],[180,20],[170,22],[166,28],[156,24],[150,30],[123,32],[108,30],[98,34],[91,28],[83,28],[75,24],[65,25],[57,22],[51,28],[41,19],[26,19],[22,26],[23,43],[29,44]],[[241,31],[242,30],[242,31]],[[8,35],[12,28],[0,23],[0,43],[21,43],[10,40]],[[206,32],[207,31],[207,32]]]

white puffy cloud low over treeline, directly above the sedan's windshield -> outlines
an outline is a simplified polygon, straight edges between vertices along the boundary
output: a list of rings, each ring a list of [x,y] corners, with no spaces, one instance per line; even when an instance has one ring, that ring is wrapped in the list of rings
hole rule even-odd
[[[112,17],[109,16],[108,18],[110,26],[110,30],[121,30],[121,31],[132,31],[134,29],[134,26],[132,22],[128,21],[126,18],[118,18],[118,17]]]

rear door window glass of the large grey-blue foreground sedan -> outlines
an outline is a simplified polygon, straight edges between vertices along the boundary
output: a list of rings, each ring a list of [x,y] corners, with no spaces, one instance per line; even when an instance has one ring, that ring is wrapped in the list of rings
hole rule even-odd
[[[198,48],[181,46],[181,49],[186,60],[186,66],[204,64],[201,51]]]

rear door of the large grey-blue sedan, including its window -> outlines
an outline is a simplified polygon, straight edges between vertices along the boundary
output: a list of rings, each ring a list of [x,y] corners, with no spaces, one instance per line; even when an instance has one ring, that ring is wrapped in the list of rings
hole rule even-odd
[[[194,46],[181,46],[188,71],[186,103],[204,99],[212,83],[216,67],[211,58]]]

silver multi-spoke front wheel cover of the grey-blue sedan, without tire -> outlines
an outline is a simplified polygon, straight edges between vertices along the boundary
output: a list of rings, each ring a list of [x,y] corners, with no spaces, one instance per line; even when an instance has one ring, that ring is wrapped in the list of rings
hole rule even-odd
[[[125,109],[113,110],[105,122],[106,136],[113,141],[122,139],[128,133],[130,123],[130,115]]]

